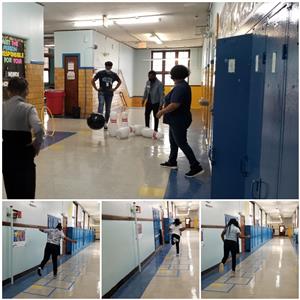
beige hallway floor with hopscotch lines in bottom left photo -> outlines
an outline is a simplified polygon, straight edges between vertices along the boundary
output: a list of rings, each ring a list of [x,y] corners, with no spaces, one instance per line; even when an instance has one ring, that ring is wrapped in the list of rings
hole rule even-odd
[[[95,242],[15,298],[100,298],[100,247]]]

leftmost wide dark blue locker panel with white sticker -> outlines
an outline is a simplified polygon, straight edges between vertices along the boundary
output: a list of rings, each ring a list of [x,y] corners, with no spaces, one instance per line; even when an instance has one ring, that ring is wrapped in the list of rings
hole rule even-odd
[[[217,41],[212,198],[244,198],[252,35]]]

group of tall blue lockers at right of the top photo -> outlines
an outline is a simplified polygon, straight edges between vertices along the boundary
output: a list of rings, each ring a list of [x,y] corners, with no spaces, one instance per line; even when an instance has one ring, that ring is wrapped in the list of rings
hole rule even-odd
[[[212,198],[298,199],[298,15],[217,41]]]

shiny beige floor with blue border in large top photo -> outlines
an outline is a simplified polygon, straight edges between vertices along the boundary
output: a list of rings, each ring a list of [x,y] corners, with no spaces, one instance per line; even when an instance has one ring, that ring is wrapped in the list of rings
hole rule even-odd
[[[142,136],[119,140],[103,129],[91,130],[86,120],[50,119],[49,131],[53,126],[56,131],[54,137],[46,138],[46,147],[36,158],[36,197],[209,198],[210,166],[202,115],[194,111],[193,116],[189,141],[205,169],[195,178],[185,178],[189,163],[181,151],[177,171],[160,166],[170,152],[168,126],[162,122],[163,140]],[[144,124],[144,109],[129,109],[128,119],[130,124]]]

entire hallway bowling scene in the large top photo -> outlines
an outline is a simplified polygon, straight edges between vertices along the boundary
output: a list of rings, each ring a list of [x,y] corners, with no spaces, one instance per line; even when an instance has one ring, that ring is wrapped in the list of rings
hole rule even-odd
[[[27,157],[35,194],[18,198],[299,198],[299,3],[5,2],[2,19],[4,108],[26,79],[45,132]],[[5,134],[24,132],[17,104]],[[176,145],[192,170],[181,150],[178,171],[160,166]],[[7,149],[9,191],[23,181]]]

